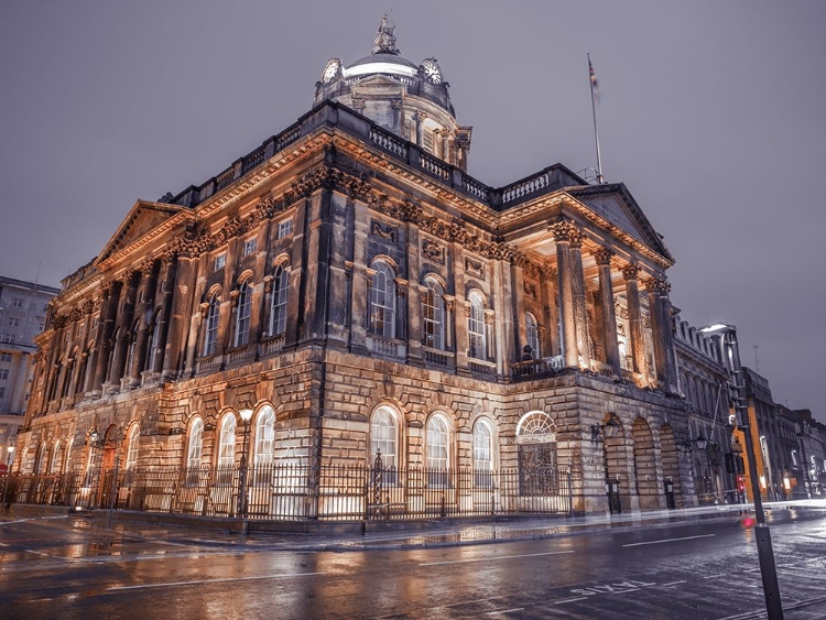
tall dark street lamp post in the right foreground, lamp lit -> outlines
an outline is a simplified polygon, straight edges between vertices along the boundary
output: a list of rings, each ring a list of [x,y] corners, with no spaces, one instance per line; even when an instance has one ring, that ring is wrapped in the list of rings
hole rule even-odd
[[[751,436],[751,421],[749,418],[749,406],[746,402],[746,383],[743,381],[742,365],[740,363],[740,349],[737,344],[737,329],[733,325],[717,324],[704,327],[705,333],[722,333],[724,356],[727,357],[731,373],[731,383],[736,395],[735,412],[738,424],[743,432],[746,444],[746,458],[749,461],[749,477],[751,479],[751,494],[754,498],[754,537],[758,545],[758,561],[760,562],[760,576],[763,580],[763,596],[765,597],[765,610],[769,620],[783,620],[783,606],[780,601],[780,587],[778,586],[778,570],[774,566],[774,551],[769,526],[765,524],[763,513],[763,501],[760,497],[760,482],[758,481],[757,463],[754,460],[754,439]]]

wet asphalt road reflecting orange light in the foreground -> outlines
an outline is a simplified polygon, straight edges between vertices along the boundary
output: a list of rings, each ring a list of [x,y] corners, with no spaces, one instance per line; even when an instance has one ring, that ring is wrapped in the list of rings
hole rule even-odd
[[[798,608],[786,618],[823,618],[826,513],[771,520],[783,605]],[[753,531],[736,519],[344,553],[151,532],[67,518],[0,523],[0,618],[694,620],[764,609]],[[801,605],[815,599],[824,602]]]

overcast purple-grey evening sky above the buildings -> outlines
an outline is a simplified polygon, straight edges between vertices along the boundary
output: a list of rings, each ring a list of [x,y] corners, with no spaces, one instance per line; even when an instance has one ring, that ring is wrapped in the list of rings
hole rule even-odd
[[[0,274],[58,285],[135,200],[292,124],[383,12],[404,57],[438,59],[492,186],[596,166],[590,53],[606,180],[676,258],[681,317],[737,325],[774,400],[826,422],[820,1],[4,0]]]

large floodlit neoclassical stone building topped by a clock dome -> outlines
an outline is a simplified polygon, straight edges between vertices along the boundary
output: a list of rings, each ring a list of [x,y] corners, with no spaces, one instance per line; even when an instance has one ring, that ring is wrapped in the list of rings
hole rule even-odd
[[[558,467],[578,512],[608,509],[607,481],[623,511],[666,485],[696,503],[681,446],[725,444],[719,369],[675,344],[662,237],[623,184],[562,164],[486,185],[470,139],[436,61],[382,21],[295,124],[135,203],[64,281],[18,468],[228,466],[251,411],[256,464]],[[676,351],[693,402],[705,382],[693,429]]]

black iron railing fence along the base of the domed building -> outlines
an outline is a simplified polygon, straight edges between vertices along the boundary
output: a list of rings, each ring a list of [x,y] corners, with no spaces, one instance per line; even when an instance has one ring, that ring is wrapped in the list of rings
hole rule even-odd
[[[7,504],[261,520],[570,514],[570,488],[568,471],[546,466],[490,471],[257,464],[0,477]]]

